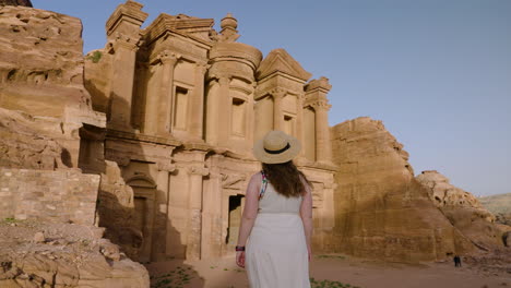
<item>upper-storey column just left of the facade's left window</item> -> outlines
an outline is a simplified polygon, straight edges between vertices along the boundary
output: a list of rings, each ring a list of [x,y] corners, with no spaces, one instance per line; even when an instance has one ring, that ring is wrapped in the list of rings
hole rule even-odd
[[[180,56],[171,51],[163,51],[159,60],[163,64],[162,84],[158,96],[157,133],[166,135],[170,133],[173,127],[173,103],[174,103],[174,68]]]

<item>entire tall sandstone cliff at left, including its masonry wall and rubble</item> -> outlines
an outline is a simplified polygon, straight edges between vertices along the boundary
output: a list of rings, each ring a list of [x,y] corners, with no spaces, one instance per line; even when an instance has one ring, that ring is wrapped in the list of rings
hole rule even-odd
[[[98,190],[131,206],[133,195],[104,161],[80,20],[10,5],[0,15],[0,286],[147,287],[146,269],[92,226]]]

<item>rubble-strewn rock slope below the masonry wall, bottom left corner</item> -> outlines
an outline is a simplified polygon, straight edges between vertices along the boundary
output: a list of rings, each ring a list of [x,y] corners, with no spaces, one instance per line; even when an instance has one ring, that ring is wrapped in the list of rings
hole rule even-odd
[[[148,287],[147,271],[102,235],[93,226],[0,221],[0,287]]]

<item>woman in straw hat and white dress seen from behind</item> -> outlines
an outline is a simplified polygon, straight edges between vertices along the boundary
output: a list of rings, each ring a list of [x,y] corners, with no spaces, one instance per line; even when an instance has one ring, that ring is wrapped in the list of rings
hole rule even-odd
[[[236,263],[247,267],[251,288],[310,287],[312,196],[292,161],[299,151],[298,140],[282,131],[253,147],[262,170],[248,184],[236,247]]]

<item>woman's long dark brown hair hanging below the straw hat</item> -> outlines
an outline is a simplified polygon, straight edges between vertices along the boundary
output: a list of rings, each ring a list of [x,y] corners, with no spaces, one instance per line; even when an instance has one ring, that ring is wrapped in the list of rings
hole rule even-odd
[[[272,183],[278,194],[286,197],[297,197],[305,195],[306,187],[305,182],[310,185],[307,177],[296,168],[293,161],[280,163],[280,164],[262,164],[262,169],[268,177],[268,181]]]

